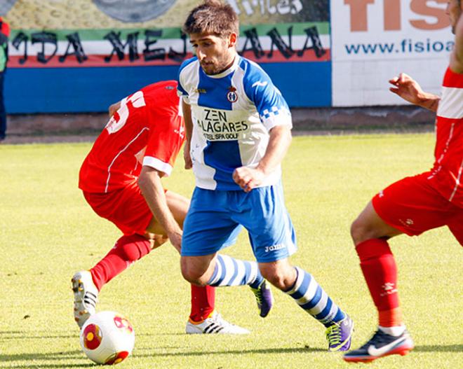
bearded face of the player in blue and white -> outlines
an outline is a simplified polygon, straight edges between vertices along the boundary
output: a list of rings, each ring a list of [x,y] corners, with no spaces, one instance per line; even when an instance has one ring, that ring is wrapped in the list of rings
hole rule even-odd
[[[213,34],[190,34],[190,43],[206,74],[219,74],[234,61],[236,34],[227,38]]]

